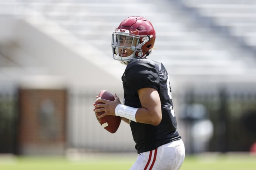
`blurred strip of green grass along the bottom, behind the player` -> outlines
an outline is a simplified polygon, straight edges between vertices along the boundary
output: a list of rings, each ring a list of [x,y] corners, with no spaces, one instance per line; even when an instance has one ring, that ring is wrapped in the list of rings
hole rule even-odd
[[[136,155],[86,155],[83,157],[0,156],[0,170],[129,170]],[[256,156],[186,156],[180,170],[256,170]]]

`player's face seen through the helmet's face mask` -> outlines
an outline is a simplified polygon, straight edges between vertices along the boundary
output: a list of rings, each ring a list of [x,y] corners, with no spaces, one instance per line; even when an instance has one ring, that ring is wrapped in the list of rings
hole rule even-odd
[[[118,46],[122,46],[123,48],[119,48],[119,56],[128,57],[133,54],[134,50],[132,47],[137,46],[138,39],[129,36],[118,36]],[[134,48],[135,49],[135,48]]]

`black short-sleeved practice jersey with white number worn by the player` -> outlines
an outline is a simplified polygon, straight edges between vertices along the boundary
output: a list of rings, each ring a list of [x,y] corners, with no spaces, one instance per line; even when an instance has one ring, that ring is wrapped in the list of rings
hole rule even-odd
[[[131,121],[130,127],[138,153],[150,151],[181,137],[176,131],[176,118],[171,99],[169,76],[162,63],[150,59],[131,61],[122,76],[124,104],[141,107],[138,97],[140,88],[155,88],[161,99],[162,121],[159,125]]]

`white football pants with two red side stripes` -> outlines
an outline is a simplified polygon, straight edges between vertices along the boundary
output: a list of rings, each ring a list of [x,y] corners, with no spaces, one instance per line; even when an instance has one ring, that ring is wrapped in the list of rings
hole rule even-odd
[[[140,153],[130,170],[178,170],[185,158],[182,139]]]

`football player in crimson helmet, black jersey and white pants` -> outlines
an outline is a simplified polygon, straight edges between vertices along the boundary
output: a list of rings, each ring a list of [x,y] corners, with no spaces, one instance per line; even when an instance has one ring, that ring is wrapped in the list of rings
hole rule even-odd
[[[98,99],[95,112],[121,116],[130,124],[137,161],[130,170],[178,170],[185,147],[177,131],[169,76],[162,63],[147,58],[156,32],[144,17],[128,17],[112,33],[113,58],[127,65],[122,76],[124,104]]]

